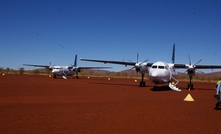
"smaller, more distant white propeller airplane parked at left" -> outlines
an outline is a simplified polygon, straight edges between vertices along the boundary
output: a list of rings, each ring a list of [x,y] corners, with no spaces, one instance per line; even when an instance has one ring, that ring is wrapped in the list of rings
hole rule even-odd
[[[34,66],[34,67],[45,67],[52,71],[53,77],[62,76],[63,79],[67,79],[66,76],[73,76],[76,74],[78,79],[78,72],[81,69],[105,69],[111,67],[77,67],[77,55],[75,55],[74,65],[72,66],[48,66],[48,65],[34,65],[34,64],[23,64],[24,66]]]

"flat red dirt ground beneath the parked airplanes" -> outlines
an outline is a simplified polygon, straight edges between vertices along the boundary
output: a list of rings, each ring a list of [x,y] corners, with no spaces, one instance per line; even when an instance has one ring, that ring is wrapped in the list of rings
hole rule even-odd
[[[221,110],[213,110],[215,83],[182,92],[134,79],[53,79],[0,76],[0,133],[217,134]],[[191,94],[195,101],[184,98]]]

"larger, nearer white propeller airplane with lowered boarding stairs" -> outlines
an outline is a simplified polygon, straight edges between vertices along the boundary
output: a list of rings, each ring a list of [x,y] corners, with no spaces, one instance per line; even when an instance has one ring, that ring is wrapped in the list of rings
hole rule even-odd
[[[138,55],[137,55],[138,59]],[[178,84],[178,80],[176,80],[172,74],[175,71],[175,69],[187,69],[186,72],[189,75],[190,82],[187,85],[187,89],[193,89],[192,84],[192,78],[195,75],[196,69],[218,69],[221,68],[221,65],[197,65],[200,61],[198,61],[196,64],[175,64],[175,44],[173,45],[173,51],[172,51],[172,63],[166,63],[163,61],[157,61],[155,63],[147,63],[145,61],[143,62],[125,62],[125,61],[109,61],[109,60],[94,60],[94,59],[84,59],[80,58],[82,61],[91,61],[91,62],[102,62],[102,63],[112,63],[112,64],[119,64],[119,65],[125,65],[125,66],[134,66],[136,72],[141,73],[141,81],[140,86],[144,87],[146,85],[144,81],[144,75],[145,73],[148,73],[149,79],[152,81],[152,83],[155,84],[154,88],[157,86],[157,84],[168,84],[168,86],[175,91],[181,91],[179,88],[176,87]],[[148,67],[150,67],[148,69]],[[176,81],[174,83],[173,81]]]

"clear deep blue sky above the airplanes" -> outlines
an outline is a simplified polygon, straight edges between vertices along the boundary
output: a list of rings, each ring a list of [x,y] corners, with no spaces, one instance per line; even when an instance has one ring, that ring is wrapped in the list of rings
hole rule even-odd
[[[79,58],[221,64],[220,0],[0,0],[0,67],[122,65]],[[130,67],[131,68],[131,67]]]

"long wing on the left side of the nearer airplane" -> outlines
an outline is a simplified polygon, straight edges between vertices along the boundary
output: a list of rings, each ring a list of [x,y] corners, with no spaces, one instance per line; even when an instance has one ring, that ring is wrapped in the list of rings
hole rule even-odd
[[[83,59],[80,58],[80,60],[83,61],[91,61],[91,62],[101,62],[101,63],[111,63],[111,64],[119,64],[119,65],[125,65],[125,66],[134,66],[136,62],[125,62],[125,61],[111,61],[111,60],[92,60],[92,59]]]

